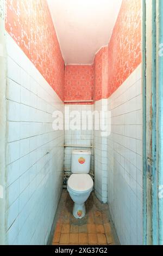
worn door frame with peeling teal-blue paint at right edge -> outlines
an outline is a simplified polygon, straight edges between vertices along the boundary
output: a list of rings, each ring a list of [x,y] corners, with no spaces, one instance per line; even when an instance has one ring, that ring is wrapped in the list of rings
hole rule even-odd
[[[143,243],[163,245],[163,1],[142,9]]]

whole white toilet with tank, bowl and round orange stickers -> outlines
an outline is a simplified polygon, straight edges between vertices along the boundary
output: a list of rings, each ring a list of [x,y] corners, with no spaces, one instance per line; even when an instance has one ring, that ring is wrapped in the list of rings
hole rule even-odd
[[[68,178],[67,190],[74,202],[73,216],[82,219],[85,216],[85,201],[93,189],[93,180],[89,175],[91,151],[73,150],[71,158],[72,175]]]

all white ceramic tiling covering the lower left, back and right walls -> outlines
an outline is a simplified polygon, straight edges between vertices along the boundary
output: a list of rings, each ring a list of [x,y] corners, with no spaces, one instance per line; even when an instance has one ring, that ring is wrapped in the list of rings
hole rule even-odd
[[[62,187],[64,132],[53,131],[52,112],[64,112],[64,105],[9,35],[7,49],[6,242],[41,245],[47,243]],[[96,102],[95,110],[106,103],[109,139],[98,131],[69,130],[65,144],[92,145],[94,138],[96,195],[104,202],[108,197],[121,243],[142,244],[141,66],[108,100]],[[65,169],[71,168],[71,151],[65,149]]]

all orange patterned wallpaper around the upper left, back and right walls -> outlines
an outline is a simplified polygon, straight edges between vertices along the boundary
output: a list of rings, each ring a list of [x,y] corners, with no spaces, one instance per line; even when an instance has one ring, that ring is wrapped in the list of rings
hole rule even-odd
[[[141,0],[123,0],[108,47],[92,66],[66,66],[65,75],[46,0],[6,0],[6,7],[6,30],[62,100],[108,98],[141,63]]]

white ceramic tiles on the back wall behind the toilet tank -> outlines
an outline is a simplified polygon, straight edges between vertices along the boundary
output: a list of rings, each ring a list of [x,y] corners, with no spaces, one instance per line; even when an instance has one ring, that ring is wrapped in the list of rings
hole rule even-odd
[[[69,108],[69,112],[71,111],[78,111],[80,114],[79,123],[81,124],[80,130],[65,130],[65,144],[66,145],[86,145],[91,146],[93,145],[93,130],[82,130],[82,111],[93,111],[93,105],[65,105],[65,108]],[[67,124],[67,115],[68,112],[65,111],[65,128]],[[70,121],[72,118],[70,117]],[[80,149],[80,147],[78,147]],[[71,170],[71,153],[73,149],[78,149],[77,147],[66,147],[65,148],[65,170]],[[90,148],[83,148],[89,149]],[[93,171],[93,149],[91,150],[91,170]]]

